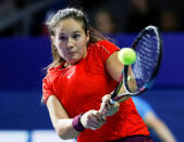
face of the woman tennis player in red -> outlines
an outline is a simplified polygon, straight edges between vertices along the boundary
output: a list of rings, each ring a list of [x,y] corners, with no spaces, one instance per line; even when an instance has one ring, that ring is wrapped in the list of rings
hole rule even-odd
[[[60,56],[69,64],[75,64],[86,56],[88,40],[89,35],[85,34],[83,24],[73,18],[62,20],[52,37]]]

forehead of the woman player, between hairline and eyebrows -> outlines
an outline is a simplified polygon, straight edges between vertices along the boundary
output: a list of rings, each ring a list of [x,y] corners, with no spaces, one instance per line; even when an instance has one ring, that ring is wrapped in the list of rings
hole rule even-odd
[[[65,18],[62,20],[56,27],[57,33],[66,33],[66,31],[84,31],[83,24],[79,21],[76,21],[74,18]]]

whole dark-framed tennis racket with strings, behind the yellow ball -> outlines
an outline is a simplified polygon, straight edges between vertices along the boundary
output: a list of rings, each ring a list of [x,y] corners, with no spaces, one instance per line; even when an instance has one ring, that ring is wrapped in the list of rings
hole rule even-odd
[[[114,104],[114,101],[121,102],[121,99],[124,96],[139,95],[148,90],[159,72],[162,57],[162,38],[156,26],[144,28],[131,48],[136,52],[136,61],[132,65],[124,65],[120,81],[111,94],[111,104]],[[136,89],[134,90],[131,90],[128,83],[130,69],[132,69],[133,79],[136,81]],[[119,94],[122,85],[125,93]]]

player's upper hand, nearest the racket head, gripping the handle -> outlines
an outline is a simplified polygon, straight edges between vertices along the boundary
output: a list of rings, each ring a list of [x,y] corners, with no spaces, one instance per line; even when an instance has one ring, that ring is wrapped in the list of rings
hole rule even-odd
[[[99,113],[102,116],[112,116],[119,111],[120,104],[118,102],[115,102],[114,104],[110,104],[110,94],[107,94],[102,98],[102,103],[99,109]]]

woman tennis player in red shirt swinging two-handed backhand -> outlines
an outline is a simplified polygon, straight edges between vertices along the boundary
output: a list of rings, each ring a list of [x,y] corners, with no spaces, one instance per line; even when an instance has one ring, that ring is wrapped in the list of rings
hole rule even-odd
[[[120,49],[90,27],[77,9],[59,10],[47,26],[53,62],[48,65],[42,92],[60,138],[151,142],[132,99],[109,104],[123,68],[116,57]]]

